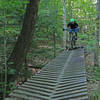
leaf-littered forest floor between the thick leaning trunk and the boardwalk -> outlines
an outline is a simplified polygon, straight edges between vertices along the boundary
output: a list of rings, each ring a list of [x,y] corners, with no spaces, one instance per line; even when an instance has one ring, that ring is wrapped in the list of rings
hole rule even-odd
[[[54,53],[54,47],[53,45],[50,45],[53,43],[48,44],[37,44],[38,46],[32,47],[30,52],[27,56],[27,65],[29,70],[32,71],[32,75],[37,74],[40,72],[40,70],[48,64],[52,59],[55,58],[55,56],[58,56],[60,54],[61,47],[59,44],[56,45],[56,52]],[[54,56],[55,54],[55,56]]]

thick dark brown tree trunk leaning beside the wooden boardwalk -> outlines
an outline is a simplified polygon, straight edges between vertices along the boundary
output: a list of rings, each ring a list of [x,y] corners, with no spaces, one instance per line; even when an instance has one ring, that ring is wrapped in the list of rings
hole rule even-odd
[[[22,69],[23,62],[25,61],[32,43],[39,1],[40,0],[29,0],[26,8],[26,14],[24,16],[21,34],[19,35],[15,47],[8,59],[8,68],[15,69],[17,75]],[[14,81],[15,78],[12,80]]]

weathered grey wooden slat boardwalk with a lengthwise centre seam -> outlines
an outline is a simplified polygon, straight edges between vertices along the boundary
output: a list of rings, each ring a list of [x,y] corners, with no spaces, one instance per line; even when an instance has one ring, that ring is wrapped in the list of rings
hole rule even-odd
[[[5,100],[88,100],[84,49],[64,51]]]

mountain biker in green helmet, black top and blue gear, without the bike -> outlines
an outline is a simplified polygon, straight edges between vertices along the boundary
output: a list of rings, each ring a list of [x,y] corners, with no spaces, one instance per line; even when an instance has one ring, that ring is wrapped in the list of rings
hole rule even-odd
[[[72,31],[74,31],[75,39],[77,40],[77,32],[78,32],[79,28],[78,28],[78,24],[76,23],[75,19],[73,19],[73,18],[70,19],[70,22],[68,23],[67,28],[69,28],[69,27],[70,27],[70,30],[69,30],[70,35],[71,35]]]

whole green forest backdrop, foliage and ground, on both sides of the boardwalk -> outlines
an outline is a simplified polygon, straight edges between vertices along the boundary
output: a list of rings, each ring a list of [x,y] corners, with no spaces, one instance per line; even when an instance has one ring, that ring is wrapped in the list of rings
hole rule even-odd
[[[6,75],[16,74],[7,69],[7,61],[20,35],[28,0],[0,0],[0,98],[41,70],[63,51],[63,0],[40,0],[31,48],[25,57],[17,83],[6,82]],[[66,23],[74,18],[79,24],[78,46],[86,48],[87,79],[90,95],[100,93],[100,42],[96,34],[96,0],[66,0]],[[98,13],[100,15],[100,13]],[[99,32],[100,33],[100,32]],[[99,44],[99,45],[98,45]],[[68,32],[67,32],[67,45]],[[99,49],[98,49],[99,48]],[[98,54],[97,54],[98,53]],[[95,60],[96,59],[96,60]],[[13,62],[10,62],[10,64]],[[19,67],[20,68],[20,67]],[[25,70],[27,69],[27,71]],[[29,74],[29,72],[31,72]],[[5,86],[9,89],[5,90]],[[1,100],[0,99],[0,100]]]

